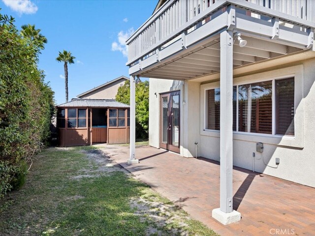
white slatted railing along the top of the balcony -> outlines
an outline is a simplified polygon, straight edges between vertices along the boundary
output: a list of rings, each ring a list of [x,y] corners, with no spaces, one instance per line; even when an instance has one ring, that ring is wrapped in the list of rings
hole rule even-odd
[[[214,19],[216,12],[226,10],[226,5],[234,4],[246,10],[248,2],[256,4],[260,14],[266,12],[284,22],[305,28],[315,22],[315,0],[169,0],[127,40],[127,65],[150,55],[184,30]]]

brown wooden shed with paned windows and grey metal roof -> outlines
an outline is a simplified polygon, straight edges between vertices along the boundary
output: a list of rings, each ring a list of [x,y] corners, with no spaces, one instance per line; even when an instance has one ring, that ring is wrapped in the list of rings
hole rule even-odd
[[[80,99],[57,107],[61,147],[129,143],[129,105],[112,99]]]

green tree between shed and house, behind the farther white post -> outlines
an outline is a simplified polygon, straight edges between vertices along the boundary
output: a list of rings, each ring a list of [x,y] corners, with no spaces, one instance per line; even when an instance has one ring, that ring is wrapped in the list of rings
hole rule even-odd
[[[130,104],[130,82],[118,89],[116,100]],[[136,83],[136,138],[148,138],[149,134],[149,81]]]

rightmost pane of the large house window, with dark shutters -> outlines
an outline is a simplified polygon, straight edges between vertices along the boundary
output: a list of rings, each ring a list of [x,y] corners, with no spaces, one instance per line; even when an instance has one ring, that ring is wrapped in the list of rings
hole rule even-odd
[[[276,134],[294,135],[294,78],[276,80]]]

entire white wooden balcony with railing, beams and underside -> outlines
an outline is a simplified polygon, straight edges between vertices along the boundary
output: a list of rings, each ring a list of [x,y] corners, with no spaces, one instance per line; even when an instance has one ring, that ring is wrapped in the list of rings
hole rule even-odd
[[[262,0],[165,2],[127,40],[129,74],[182,80],[216,73],[224,30],[240,33],[248,41],[246,47],[234,47],[234,68],[313,50],[315,2],[271,0],[270,6],[263,2],[269,4]]]

